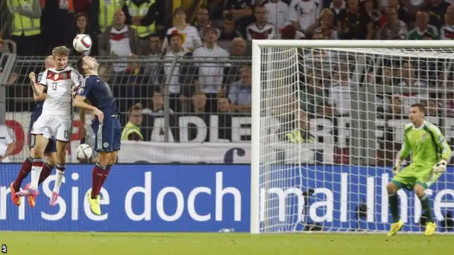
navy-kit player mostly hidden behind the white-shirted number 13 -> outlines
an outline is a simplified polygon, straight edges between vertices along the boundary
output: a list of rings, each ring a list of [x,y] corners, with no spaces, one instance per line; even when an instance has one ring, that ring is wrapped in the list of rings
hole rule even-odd
[[[45,59],[45,69],[55,67],[53,56],[50,55]],[[30,78],[30,83],[32,86],[33,91],[38,88],[38,82],[40,81],[41,77],[43,76],[44,72],[40,72],[38,74],[38,79],[36,80],[35,78],[35,73],[31,72],[29,74]],[[33,154],[33,140],[35,139],[35,136],[31,134],[31,128],[33,127],[33,123],[35,123],[36,120],[40,117],[41,113],[43,113],[43,104],[45,100],[45,94],[42,94],[41,96],[36,96],[33,93],[33,99],[36,102],[35,108],[33,108],[33,111],[30,116],[30,125],[28,127],[28,147],[30,148],[31,154]],[[47,147],[45,148],[44,151],[45,156],[48,158],[46,164],[43,167],[43,171],[40,173],[40,179],[38,182],[38,185],[43,183],[45,179],[47,179],[50,174],[52,174],[52,170],[55,168],[55,165],[57,164],[57,147],[56,147],[56,140],[55,137],[50,137],[49,143]],[[33,159],[31,156],[28,156],[27,160],[23,162],[21,166],[21,171],[19,171],[19,174],[16,178],[16,181],[11,183],[11,198],[13,200],[13,203],[15,205],[21,205],[21,198],[16,196],[14,193],[16,191],[19,191],[22,185],[23,179],[26,179],[26,177],[30,174],[31,168],[33,164]],[[26,185],[26,187],[30,186],[30,183]],[[36,196],[28,196],[28,205],[30,205],[32,208],[35,207],[35,198]]]

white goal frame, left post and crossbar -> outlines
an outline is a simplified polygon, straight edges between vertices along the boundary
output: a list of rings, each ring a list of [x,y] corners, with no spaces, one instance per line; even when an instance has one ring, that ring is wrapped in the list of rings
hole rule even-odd
[[[262,47],[297,48],[454,48],[450,40],[253,40],[250,165],[250,233],[260,234],[260,100]]]

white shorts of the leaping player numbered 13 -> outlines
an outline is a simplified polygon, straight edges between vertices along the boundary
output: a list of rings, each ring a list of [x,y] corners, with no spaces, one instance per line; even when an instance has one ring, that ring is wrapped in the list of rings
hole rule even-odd
[[[55,137],[57,141],[70,142],[72,135],[72,118],[70,116],[40,115],[31,129],[33,135]]]

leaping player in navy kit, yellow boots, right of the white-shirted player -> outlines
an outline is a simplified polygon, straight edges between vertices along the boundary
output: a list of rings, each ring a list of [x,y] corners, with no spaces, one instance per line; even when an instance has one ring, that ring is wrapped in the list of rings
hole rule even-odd
[[[96,116],[92,128],[96,134],[94,150],[98,152],[98,159],[93,169],[92,190],[87,193],[90,209],[95,215],[101,215],[99,193],[111,166],[116,162],[121,145],[120,111],[116,107],[109,85],[99,77],[98,67],[99,64],[93,57],[81,57],[77,60],[76,68],[85,79],[74,98],[74,106],[92,111]]]

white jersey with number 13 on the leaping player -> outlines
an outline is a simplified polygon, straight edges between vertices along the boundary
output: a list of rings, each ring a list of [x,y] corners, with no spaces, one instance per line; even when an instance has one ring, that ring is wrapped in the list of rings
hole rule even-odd
[[[72,91],[80,85],[82,77],[72,67],[46,69],[40,84],[47,94],[42,115],[72,115]]]

